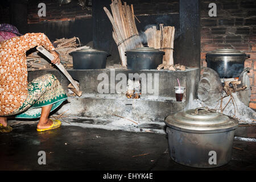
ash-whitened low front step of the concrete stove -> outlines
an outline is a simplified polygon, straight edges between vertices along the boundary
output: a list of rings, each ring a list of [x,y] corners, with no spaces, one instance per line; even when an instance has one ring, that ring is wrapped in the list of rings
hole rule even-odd
[[[155,96],[129,99],[115,94],[83,94],[82,97],[68,97],[56,114],[65,112],[74,117],[105,119],[115,119],[115,115],[119,115],[146,122],[164,121],[168,115],[184,109],[185,101],[176,102],[175,99]]]

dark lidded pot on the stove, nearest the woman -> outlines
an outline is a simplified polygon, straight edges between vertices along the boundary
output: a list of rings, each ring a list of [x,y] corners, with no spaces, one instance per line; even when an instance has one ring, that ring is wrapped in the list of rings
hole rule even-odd
[[[81,49],[71,52],[74,69],[104,69],[106,68],[106,57],[108,52],[96,49]]]

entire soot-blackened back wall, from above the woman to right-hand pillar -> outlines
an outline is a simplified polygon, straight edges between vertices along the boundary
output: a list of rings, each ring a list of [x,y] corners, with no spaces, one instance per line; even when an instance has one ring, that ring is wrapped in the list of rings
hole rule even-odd
[[[10,23],[23,34],[44,32],[50,40],[79,37],[83,45],[93,40],[94,48],[109,52],[108,64],[120,63],[112,24],[103,7],[110,10],[111,0],[93,0],[91,9],[82,9],[78,0],[59,5],[57,0],[10,1]],[[46,17],[39,18],[38,4],[46,4]],[[174,62],[200,67],[199,0],[128,0],[134,5],[139,32],[163,23],[175,26]],[[23,10],[22,16],[15,12]]]

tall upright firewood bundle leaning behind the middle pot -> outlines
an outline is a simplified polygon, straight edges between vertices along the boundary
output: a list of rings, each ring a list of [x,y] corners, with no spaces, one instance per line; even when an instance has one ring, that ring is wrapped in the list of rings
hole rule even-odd
[[[125,51],[143,47],[142,40],[135,24],[133,5],[122,4],[121,0],[113,0],[110,4],[110,11],[104,7],[110,22],[113,25],[113,39],[118,46],[122,66],[126,67]]]

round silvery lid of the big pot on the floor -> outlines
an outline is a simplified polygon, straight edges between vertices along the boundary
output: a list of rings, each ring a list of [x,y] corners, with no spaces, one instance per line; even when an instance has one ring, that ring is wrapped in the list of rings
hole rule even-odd
[[[234,130],[238,126],[235,119],[208,107],[169,115],[164,122],[168,127],[189,133],[219,133]]]

